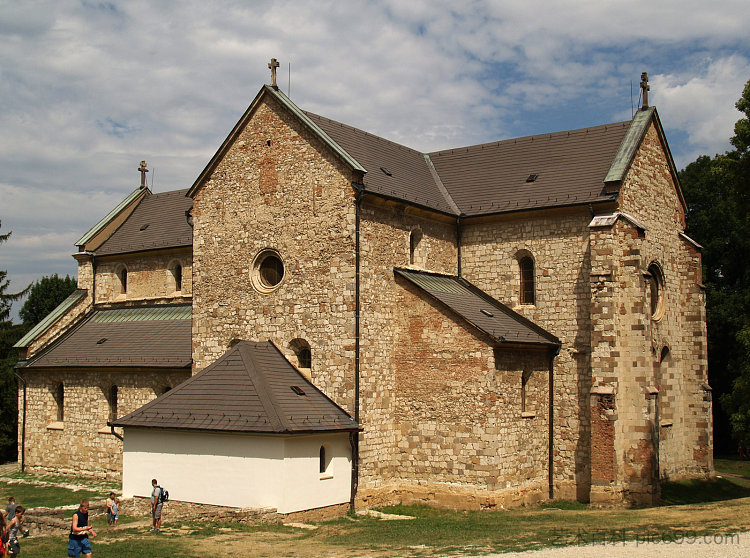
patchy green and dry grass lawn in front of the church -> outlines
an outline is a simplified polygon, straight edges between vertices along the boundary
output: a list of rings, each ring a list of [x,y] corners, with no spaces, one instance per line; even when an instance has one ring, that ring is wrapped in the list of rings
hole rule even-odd
[[[742,463],[717,464],[742,470]],[[726,474],[726,473],[725,473]],[[446,511],[425,506],[396,506],[381,511],[411,520],[386,521],[350,516],[322,522],[315,529],[278,524],[248,526],[221,522],[172,522],[168,508],[162,533],[148,531],[147,518],[123,517],[108,529],[97,520],[92,539],[97,558],[160,558],[184,556],[348,556],[428,557],[447,553],[481,555],[568,544],[619,542],[654,538],[679,540],[703,534],[750,530],[750,479],[733,476],[706,481],[665,483],[665,505],[641,509],[592,509],[576,502],[552,502],[509,511]],[[0,494],[7,487],[0,484]],[[22,490],[29,490],[28,493]],[[14,494],[28,494],[43,505],[75,503],[81,492],[42,492],[40,486],[12,485]],[[98,489],[101,490],[101,489]],[[36,494],[34,494],[36,492]],[[104,492],[93,491],[104,498]],[[45,498],[48,498],[45,501]],[[20,501],[26,501],[19,498]],[[168,504],[167,504],[168,506]],[[22,541],[24,558],[64,556],[67,534],[29,537]]]

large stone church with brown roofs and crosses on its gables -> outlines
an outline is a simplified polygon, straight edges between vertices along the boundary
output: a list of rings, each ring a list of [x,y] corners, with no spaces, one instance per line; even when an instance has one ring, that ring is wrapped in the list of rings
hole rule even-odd
[[[121,478],[134,427],[288,411],[339,413],[357,506],[648,504],[710,473],[701,247],[646,83],[630,121],[422,153],[272,79],[190,188],[142,163],[76,243],[78,290],[17,345],[22,467]],[[224,364],[327,410],[258,388],[248,417]]]

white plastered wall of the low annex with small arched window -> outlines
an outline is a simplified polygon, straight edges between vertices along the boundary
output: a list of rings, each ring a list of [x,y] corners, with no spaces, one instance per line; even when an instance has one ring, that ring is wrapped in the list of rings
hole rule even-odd
[[[331,464],[320,474],[320,446]],[[349,501],[348,434],[251,436],[126,428],[123,497],[150,496],[151,479],[171,500],[290,513]]]

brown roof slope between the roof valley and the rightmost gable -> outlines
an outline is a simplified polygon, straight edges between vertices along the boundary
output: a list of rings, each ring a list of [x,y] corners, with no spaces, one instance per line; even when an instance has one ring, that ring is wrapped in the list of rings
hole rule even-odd
[[[466,215],[590,203],[608,199],[604,178],[629,125],[437,151],[430,160]]]

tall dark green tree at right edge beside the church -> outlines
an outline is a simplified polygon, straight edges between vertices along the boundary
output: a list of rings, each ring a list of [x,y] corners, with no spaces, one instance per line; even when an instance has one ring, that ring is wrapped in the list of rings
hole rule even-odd
[[[730,432],[750,445],[750,81],[735,106],[745,115],[734,127],[735,149],[698,157],[680,173],[687,234],[704,247],[714,438],[723,451]]]

